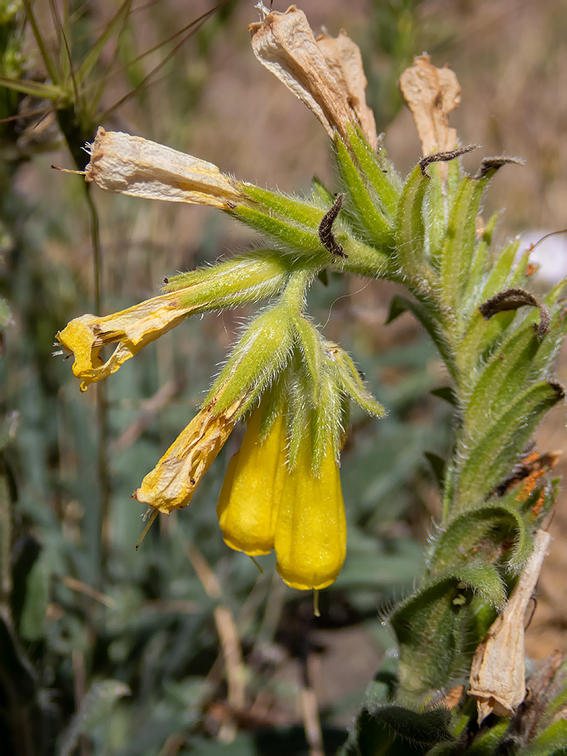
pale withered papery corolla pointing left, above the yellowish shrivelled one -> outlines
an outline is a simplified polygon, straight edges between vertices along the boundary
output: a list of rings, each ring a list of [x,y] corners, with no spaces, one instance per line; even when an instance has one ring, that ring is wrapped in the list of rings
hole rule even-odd
[[[149,139],[99,126],[88,150],[85,181],[106,191],[221,209],[246,199],[217,166]]]

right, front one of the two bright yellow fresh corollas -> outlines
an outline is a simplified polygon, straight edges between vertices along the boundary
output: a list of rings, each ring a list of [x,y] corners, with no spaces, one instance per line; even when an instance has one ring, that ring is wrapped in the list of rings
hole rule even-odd
[[[318,474],[304,438],[296,466],[287,471],[274,534],[277,572],[292,588],[325,588],[339,575],[346,555],[345,503],[331,445]]]

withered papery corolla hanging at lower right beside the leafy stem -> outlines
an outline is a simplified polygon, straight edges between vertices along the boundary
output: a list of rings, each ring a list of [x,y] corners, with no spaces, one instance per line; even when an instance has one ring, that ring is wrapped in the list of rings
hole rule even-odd
[[[476,699],[479,724],[492,712],[511,717],[525,698],[524,615],[549,542],[549,533],[536,531],[534,550],[516,587],[472,659],[469,696]]]

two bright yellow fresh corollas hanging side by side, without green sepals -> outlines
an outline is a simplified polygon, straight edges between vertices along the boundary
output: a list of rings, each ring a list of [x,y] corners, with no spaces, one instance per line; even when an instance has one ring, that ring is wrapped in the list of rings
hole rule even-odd
[[[249,556],[273,548],[285,583],[299,590],[327,587],[346,554],[345,506],[332,445],[315,473],[311,443],[304,438],[290,469],[283,415],[265,438],[261,421],[259,409],[250,417],[218,498],[225,543]]]

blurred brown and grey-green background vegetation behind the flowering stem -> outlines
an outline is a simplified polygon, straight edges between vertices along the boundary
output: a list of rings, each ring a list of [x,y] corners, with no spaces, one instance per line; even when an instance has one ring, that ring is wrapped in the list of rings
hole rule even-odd
[[[452,124],[463,144],[527,159],[500,172],[485,200],[486,217],[507,207],[502,238],[565,227],[564,2],[306,0],[302,9],[314,29],[343,27],[360,45],[401,175],[420,148],[396,80],[426,50],[460,79]],[[191,419],[248,311],[187,321],[83,395],[70,363],[51,354],[71,318],[129,307],[163,277],[254,243],[211,209],[90,192],[51,170],[82,168],[80,147],[98,125],[262,186],[308,191],[314,174],[333,186],[324,130],[253,57],[246,24],[257,17],[248,0],[0,2],[7,754],[315,754],[317,709],[331,754],[394,653],[385,618],[420,572],[438,507],[424,452],[444,456],[451,438],[448,405],[429,394],[447,383],[434,349],[409,316],[383,326],[395,287],[331,277],[310,296],[315,321],[389,408],[386,420],[352,418],[348,555],[321,593],[321,618],[270,557],[260,574],[222,541],[215,504],[237,432],[191,507],[159,518],[135,551],[143,507],[130,494]],[[560,380],[565,372],[562,361]],[[541,451],[565,444],[562,408],[538,441]],[[561,504],[528,633],[535,658],[567,649]]]

